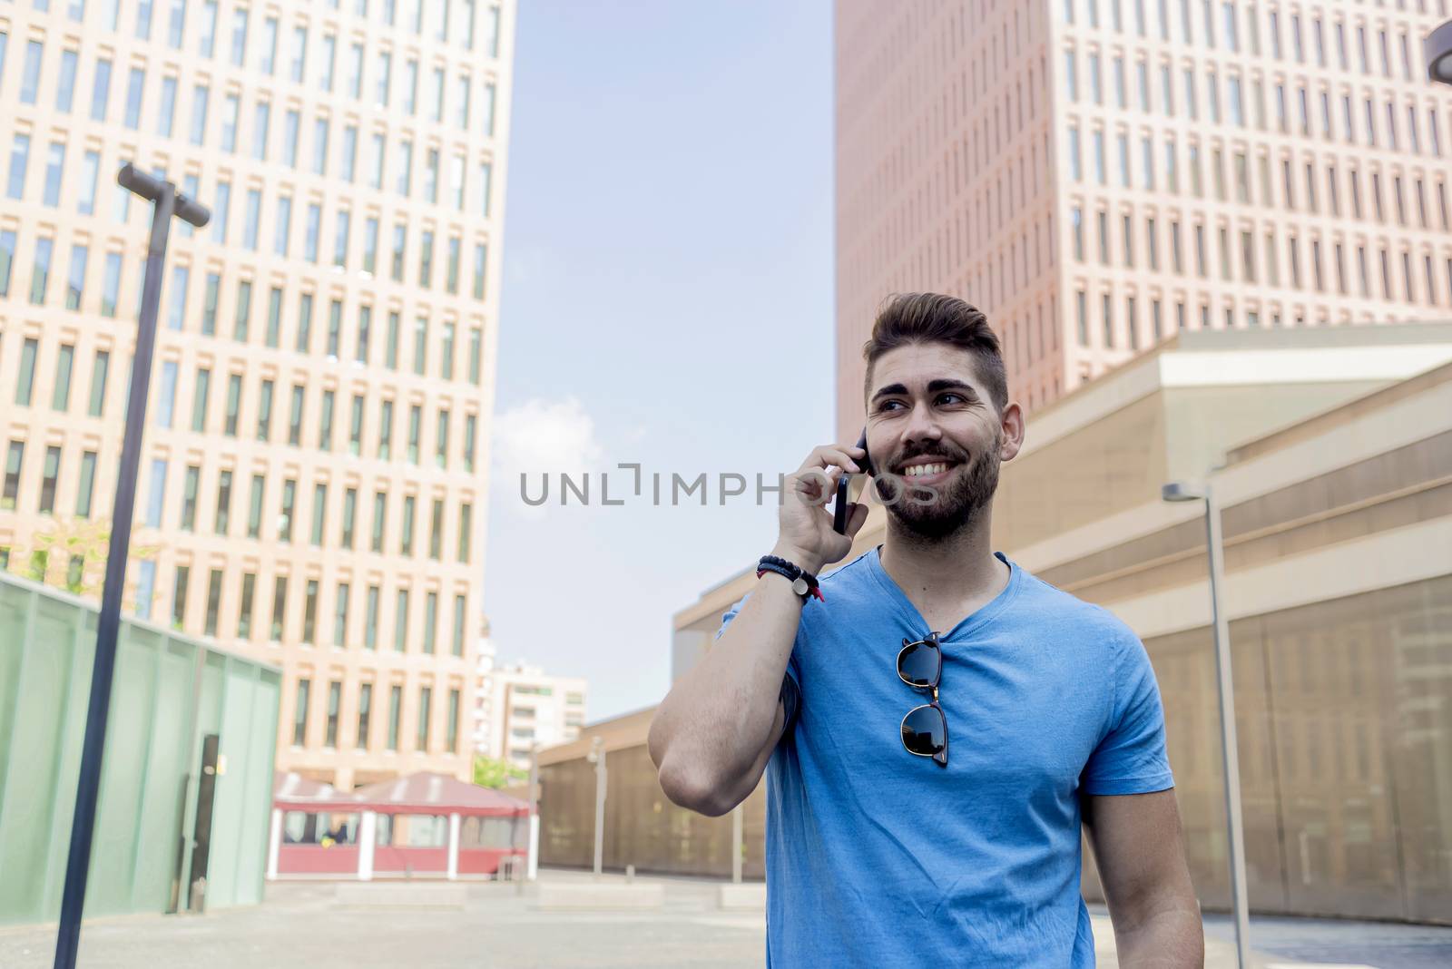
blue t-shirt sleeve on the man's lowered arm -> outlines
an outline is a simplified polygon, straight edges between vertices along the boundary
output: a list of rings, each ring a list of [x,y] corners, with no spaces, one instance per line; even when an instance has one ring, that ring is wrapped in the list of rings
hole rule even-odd
[[[1150,793],[1175,786],[1165,753],[1165,708],[1154,667],[1138,637],[1128,643],[1115,669],[1115,702],[1109,730],[1089,756],[1080,789],[1089,795]]]

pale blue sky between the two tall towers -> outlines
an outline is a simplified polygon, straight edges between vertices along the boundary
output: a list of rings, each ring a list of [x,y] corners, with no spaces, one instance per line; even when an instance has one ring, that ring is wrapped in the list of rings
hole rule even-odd
[[[775,543],[755,476],[832,440],[831,3],[521,3],[511,110],[484,605],[592,722],[665,696],[671,615]]]

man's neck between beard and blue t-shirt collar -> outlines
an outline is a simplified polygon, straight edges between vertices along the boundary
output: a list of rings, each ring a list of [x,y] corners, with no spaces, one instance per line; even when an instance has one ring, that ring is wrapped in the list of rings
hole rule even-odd
[[[883,570],[922,612],[963,608],[968,612],[990,602],[1009,580],[1009,569],[989,535],[992,505],[974,521],[939,541],[925,540],[887,516],[887,537],[878,554]]]

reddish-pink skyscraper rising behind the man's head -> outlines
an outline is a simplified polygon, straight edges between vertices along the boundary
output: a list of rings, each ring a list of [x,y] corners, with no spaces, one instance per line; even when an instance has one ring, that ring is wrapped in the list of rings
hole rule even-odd
[[[1437,0],[836,3],[838,434],[892,292],[1056,400],[1180,329],[1452,309]]]

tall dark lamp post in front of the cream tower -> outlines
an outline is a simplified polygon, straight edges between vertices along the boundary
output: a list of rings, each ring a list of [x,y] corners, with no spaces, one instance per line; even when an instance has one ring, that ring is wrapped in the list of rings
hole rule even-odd
[[[116,173],[116,181],[123,189],[152,203],[151,241],[147,247],[147,274],[141,287],[136,354],[131,364],[126,432],[121,442],[121,464],[116,471],[116,503],[112,511],[110,547],[106,553],[106,582],[102,586],[100,618],[96,624],[96,657],[91,666],[90,704],[86,708],[81,772],[76,783],[76,815],[71,821],[70,854],[65,859],[61,924],[55,934],[55,969],[74,969],[80,947],[86,878],[90,872],[91,834],[96,825],[96,796],[100,789],[100,757],[106,746],[110,682],[116,672],[121,593],[126,585],[131,512],[136,503],[136,466],[141,463],[141,434],[145,429],[147,389],[151,383],[151,351],[157,342],[157,306],[161,303],[161,276],[167,258],[171,216],[177,216],[199,229],[212,218],[205,206],[180,194],[174,184],[154,178],[131,162],[121,167],[121,171]]]

